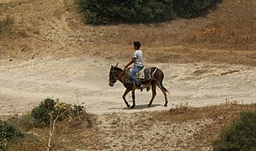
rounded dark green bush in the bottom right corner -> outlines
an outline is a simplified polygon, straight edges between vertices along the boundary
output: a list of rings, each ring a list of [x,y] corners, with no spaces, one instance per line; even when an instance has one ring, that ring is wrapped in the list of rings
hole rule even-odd
[[[242,112],[237,122],[223,130],[213,143],[216,150],[256,150],[256,111]]]

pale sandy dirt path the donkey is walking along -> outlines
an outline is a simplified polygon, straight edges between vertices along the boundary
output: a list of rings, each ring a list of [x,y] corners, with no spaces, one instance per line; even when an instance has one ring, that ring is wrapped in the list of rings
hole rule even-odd
[[[118,81],[109,86],[110,63],[93,58],[36,58],[0,62],[0,114],[23,113],[47,97],[61,102],[84,102],[88,112],[141,112],[166,110],[188,104],[202,107],[226,101],[251,103],[255,98],[254,67],[243,65],[156,64],[165,73],[163,85],[170,91],[168,107],[162,92],[147,107],[151,92],[136,91],[136,108],[125,107],[121,96],[125,88]],[[113,63],[114,65],[114,63]],[[124,64],[120,64],[123,66]],[[152,65],[148,65],[152,66]],[[131,94],[127,95],[131,102]]]

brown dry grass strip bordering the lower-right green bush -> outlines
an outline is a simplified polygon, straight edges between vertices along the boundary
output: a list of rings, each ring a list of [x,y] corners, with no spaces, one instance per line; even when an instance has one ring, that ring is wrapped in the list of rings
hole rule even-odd
[[[216,140],[221,129],[227,128],[229,124],[236,121],[243,111],[255,111],[255,104],[242,105],[237,102],[227,102],[226,104],[209,107],[187,107],[181,106],[171,109],[168,112],[149,113],[155,122],[188,122],[211,119],[214,122],[206,125],[196,133],[193,141],[189,141],[189,146],[195,150],[205,146],[211,146],[212,141]]]

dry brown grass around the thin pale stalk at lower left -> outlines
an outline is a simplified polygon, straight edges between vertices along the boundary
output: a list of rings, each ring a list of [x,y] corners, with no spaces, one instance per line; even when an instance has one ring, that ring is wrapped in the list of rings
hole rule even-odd
[[[75,150],[77,148],[95,148],[98,143],[97,128],[91,127],[93,122],[96,122],[96,116],[91,114],[83,114],[84,120],[80,121],[78,117],[72,120],[56,123],[56,133],[52,138],[51,150]],[[88,122],[87,118],[90,118]],[[13,119],[11,119],[12,122]],[[21,120],[22,118],[16,118]],[[19,124],[19,121],[14,122],[14,125],[21,128],[25,133],[23,139],[19,139],[13,143],[9,150],[46,150],[49,139],[50,128],[26,128],[26,124]]]

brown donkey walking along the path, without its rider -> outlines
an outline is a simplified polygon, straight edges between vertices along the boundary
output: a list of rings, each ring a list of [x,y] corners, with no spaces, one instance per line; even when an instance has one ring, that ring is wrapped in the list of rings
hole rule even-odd
[[[134,108],[136,106],[135,105],[135,90],[140,89],[140,87],[135,86],[133,83],[126,83],[125,79],[130,78],[130,76],[127,75],[124,72],[124,70],[117,67],[117,65],[115,65],[115,66],[111,65],[111,69],[109,72],[109,86],[114,86],[114,84],[117,80],[119,80],[121,83],[123,83],[123,85],[126,88],[125,93],[123,94],[123,99],[125,101],[125,104],[128,108],[130,108],[129,103],[125,99],[125,96],[131,91],[132,101],[133,101],[131,108]],[[166,90],[166,88],[163,87],[163,77],[164,77],[163,71],[158,69],[157,67],[151,67],[151,70],[152,70],[152,75],[151,75],[152,78],[149,81],[146,81],[144,83],[142,82],[142,84],[146,85],[147,90],[149,90],[148,88],[150,88],[150,86],[152,86],[152,98],[151,98],[151,101],[148,103],[148,107],[150,107],[152,105],[152,102],[153,102],[155,96],[157,95],[156,86],[158,86],[161,89],[161,91],[163,91],[163,95],[165,98],[164,107],[167,107],[167,104],[168,104],[167,92],[168,92],[168,90]]]

